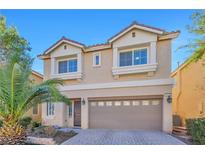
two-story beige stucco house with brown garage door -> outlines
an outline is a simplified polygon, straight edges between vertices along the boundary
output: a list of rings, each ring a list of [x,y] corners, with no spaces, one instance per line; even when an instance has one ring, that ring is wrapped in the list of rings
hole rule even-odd
[[[171,41],[178,35],[134,22],[105,44],[63,37],[39,57],[44,80],[64,79],[60,91],[72,105],[43,104],[43,124],[170,132]]]

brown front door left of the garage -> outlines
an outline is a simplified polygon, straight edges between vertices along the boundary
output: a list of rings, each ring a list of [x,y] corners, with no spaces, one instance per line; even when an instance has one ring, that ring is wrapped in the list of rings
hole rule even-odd
[[[74,126],[81,126],[81,102],[79,100],[74,102]]]

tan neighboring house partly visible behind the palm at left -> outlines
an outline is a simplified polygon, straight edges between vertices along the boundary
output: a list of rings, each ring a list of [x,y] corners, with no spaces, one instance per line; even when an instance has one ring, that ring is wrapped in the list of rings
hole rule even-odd
[[[40,84],[43,82],[43,75],[36,72],[36,71],[32,71],[32,75],[31,75],[31,80],[34,84]],[[34,121],[39,121],[41,122],[41,104],[31,108],[26,114],[25,116],[29,116],[31,117]]]

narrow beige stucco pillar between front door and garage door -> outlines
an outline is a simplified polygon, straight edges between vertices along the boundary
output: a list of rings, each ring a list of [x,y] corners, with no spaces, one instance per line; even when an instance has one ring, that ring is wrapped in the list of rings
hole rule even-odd
[[[85,100],[85,104],[81,104],[81,128],[86,129],[88,128],[88,116],[89,116],[89,111],[88,111],[88,99],[86,97],[81,98],[82,100]]]

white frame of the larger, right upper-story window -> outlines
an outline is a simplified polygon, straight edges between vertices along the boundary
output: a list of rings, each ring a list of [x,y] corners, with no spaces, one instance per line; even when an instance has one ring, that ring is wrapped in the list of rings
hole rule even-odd
[[[138,65],[134,65],[134,52],[136,50],[142,50],[142,49],[146,49],[147,50],[147,63],[146,64],[138,64]],[[132,52],[132,65],[128,65],[128,66],[120,66],[120,53],[124,53],[124,52]],[[124,49],[124,50],[119,50],[118,52],[118,67],[120,68],[126,68],[126,67],[137,67],[137,66],[143,66],[143,65],[147,65],[149,64],[149,47],[140,47],[140,48],[130,48],[130,49]]]

